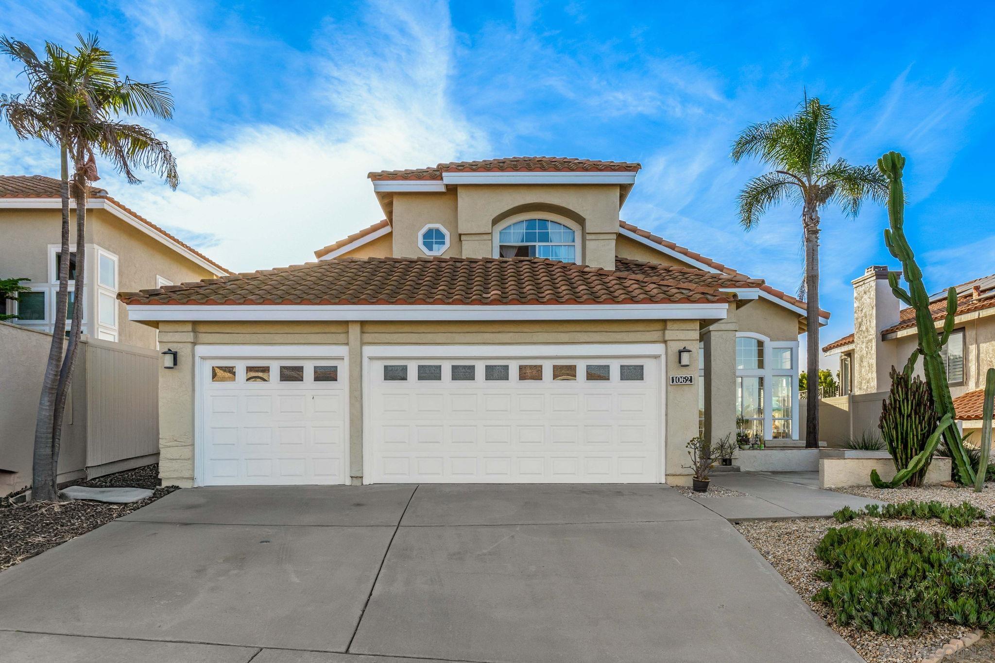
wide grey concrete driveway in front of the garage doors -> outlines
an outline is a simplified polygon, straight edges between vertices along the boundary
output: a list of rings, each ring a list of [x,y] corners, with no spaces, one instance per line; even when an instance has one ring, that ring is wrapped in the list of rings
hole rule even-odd
[[[186,489],[0,596],[22,663],[862,660],[666,486]]]

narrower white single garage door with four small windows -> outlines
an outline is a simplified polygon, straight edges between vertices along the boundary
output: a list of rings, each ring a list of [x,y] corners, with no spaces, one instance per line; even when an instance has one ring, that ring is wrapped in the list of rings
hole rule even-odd
[[[348,483],[341,358],[200,360],[198,485]]]

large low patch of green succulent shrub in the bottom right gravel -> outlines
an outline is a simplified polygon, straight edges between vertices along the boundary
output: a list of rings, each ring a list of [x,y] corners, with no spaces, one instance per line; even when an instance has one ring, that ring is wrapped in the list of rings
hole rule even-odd
[[[815,552],[829,586],[813,599],[841,624],[896,637],[936,621],[995,627],[995,550],[970,556],[941,534],[869,525],[832,528]]]

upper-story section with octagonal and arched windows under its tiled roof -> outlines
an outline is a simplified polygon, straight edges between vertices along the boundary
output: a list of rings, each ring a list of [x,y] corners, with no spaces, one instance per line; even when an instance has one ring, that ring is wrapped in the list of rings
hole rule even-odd
[[[370,173],[395,257],[548,257],[614,268],[638,163],[513,157]]]

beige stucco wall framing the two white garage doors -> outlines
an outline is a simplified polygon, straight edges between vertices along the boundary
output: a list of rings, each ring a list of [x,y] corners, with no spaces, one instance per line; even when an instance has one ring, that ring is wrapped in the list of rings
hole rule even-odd
[[[178,353],[177,368],[159,371],[159,475],[164,484],[193,485],[193,440],[197,344],[329,344],[349,350],[350,464],[353,480],[362,476],[363,344],[541,344],[665,343],[669,375],[697,375],[678,365],[680,348],[697,343],[697,321],[593,320],[538,322],[162,322],[159,339]],[[665,383],[666,384],[666,383]],[[685,444],[697,434],[697,389],[668,387],[666,394],[667,477],[688,481]],[[673,440],[673,441],[672,441]]]

